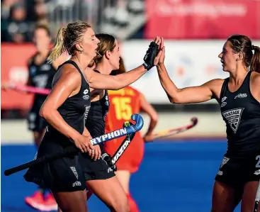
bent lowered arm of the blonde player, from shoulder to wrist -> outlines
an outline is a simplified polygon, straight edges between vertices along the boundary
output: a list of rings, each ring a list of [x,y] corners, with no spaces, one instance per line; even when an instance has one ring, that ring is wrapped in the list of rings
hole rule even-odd
[[[53,87],[49,96],[40,108],[40,116],[52,125],[53,128],[60,131],[68,138],[77,138],[79,132],[74,130],[70,125],[64,121],[60,113],[57,111],[64,101],[72,94],[72,92],[81,84],[81,76],[78,72],[72,70],[64,70],[60,78],[57,80],[55,87]]]

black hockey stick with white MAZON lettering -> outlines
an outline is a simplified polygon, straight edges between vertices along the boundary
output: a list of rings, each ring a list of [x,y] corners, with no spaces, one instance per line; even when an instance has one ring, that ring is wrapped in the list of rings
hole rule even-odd
[[[123,127],[128,127],[130,125],[132,125],[132,123],[130,123],[129,121],[125,121],[125,123],[123,124]],[[118,150],[115,151],[115,154],[113,155],[113,157],[111,159],[112,164],[115,164],[116,162],[118,162],[119,158],[123,155],[123,153],[125,152],[127,147],[130,145],[130,143],[134,137],[135,137],[135,133],[126,135],[125,139],[118,147]],[[93,194],[93,191],[91,191],[91,190],[86,191],[87,200],[89,200],[89,198],[91,197],[92,194]]]

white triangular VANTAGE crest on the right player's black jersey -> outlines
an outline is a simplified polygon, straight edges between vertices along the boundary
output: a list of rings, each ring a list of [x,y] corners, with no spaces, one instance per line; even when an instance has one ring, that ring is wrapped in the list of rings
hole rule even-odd
[[[237,133],[243,111],[244,108],[234,108],[232,110],[222,112],[222,116],[224,116],[230,124],[230,128],[232,128],[234,133]]]

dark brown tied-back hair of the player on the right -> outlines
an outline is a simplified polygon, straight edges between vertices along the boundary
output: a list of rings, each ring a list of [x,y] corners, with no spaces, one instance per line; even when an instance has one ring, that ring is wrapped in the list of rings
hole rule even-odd
[[[250,38],[246,35],[232,35],[227,40],[230,41],[235,53],[243,52],[244,65],[250,67],[252,71],[260,72],[260,48],[252,45]]]

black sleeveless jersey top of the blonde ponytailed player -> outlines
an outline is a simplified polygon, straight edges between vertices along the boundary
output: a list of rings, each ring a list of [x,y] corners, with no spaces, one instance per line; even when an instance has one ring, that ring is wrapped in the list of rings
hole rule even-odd
[[[86,79],[81,73],[81,70],[79,69],[76,62],[68,60],[62,65],[67,63],[74,65],[74,67],[76,67],[81,74],[81,88],[78,94],[66,99],[64,103],[57,109],[57,111],[59,111],[64,121],[66,121],[70,126],[72,126],[72,128],[82,134],[84,131],[85,121],[89,113],[89,108],[91,107],[89,84],[86,82]],[[62,65],[60,65],[60,67]],[[58,67],[57,74],[62,71],[60,67]],[[55,80],[52,86],[54,85]],[[49,128],[51,128],[50,125],[48,126],[48,130]],[[52,129],[55,130],[54,128]]]

